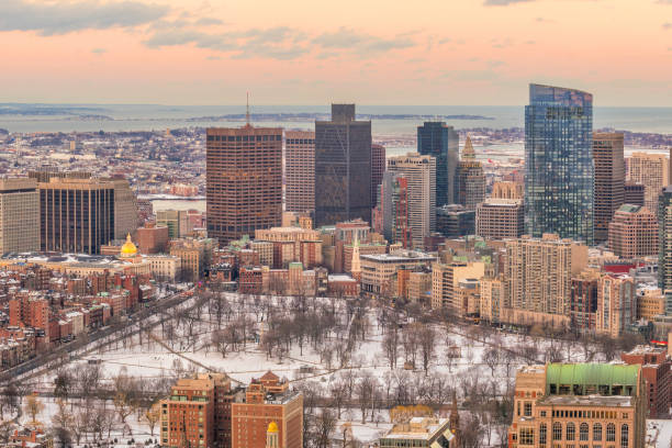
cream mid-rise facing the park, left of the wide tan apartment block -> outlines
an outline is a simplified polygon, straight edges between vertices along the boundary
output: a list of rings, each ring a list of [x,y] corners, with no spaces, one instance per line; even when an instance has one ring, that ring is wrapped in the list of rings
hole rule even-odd
[[[447,309],[457,318],[463,318],[478,310],[480,299],[472,298],[477,305],[469,306],[464,303],[463,293],[460,293],[460,283],[473,279],[478,281],[483,278],[485,265],[482,261],[450,261],[447,264],[437,262],[432,266],[432,307]],[[468,302],[468,301],[467,301]]]

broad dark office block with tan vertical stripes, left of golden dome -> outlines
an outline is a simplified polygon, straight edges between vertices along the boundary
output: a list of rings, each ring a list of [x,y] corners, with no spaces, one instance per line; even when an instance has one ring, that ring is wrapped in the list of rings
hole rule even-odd
[[[114,239],[112,182],[52,177],[37,188],[43,251],[100,254]]]

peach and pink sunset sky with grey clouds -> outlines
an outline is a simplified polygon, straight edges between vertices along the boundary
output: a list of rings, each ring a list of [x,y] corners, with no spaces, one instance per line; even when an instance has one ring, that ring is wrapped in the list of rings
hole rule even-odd
[[[0,0],[0,102],[672,107],[672,0]]]

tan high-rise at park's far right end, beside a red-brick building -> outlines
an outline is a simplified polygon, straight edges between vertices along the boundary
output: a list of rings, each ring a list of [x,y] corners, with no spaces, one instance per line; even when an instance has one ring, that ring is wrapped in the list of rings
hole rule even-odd
[[[620,336],[637,318],[637,291],[629,276],[603,275],[597,287],[595,333]]]

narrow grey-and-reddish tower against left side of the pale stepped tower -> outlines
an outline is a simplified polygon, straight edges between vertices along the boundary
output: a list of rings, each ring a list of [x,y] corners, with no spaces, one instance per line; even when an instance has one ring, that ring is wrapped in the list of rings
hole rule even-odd
[[[381,229],[390,243],[411,248],[412,232],[408,224],[408,179],[403,173],[385,171],[376,206]]]

